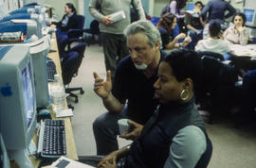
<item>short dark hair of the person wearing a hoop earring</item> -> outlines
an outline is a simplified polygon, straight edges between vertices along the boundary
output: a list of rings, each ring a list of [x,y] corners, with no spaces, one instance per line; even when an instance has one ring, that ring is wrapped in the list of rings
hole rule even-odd
[[[163,61],[166,61],[171,66],[177,81],[180,82],[186,78],[191,78],[194,91],[200,88],[203,63],[195,51],[178,49],[168,54]]]

